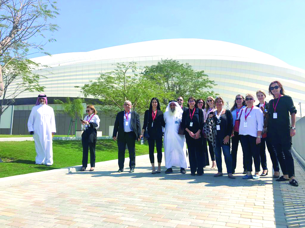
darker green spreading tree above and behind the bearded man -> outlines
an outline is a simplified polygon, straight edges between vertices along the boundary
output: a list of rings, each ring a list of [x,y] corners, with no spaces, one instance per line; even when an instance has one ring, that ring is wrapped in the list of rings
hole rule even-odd
[[[189,64],[180,64],[177,60],[165,59],[156,65],[145,67],[144,76],[156,81],[169,99],[195,97],[205,99],[215,96],[214,91],[208,91],[215,86],[204,71],[195,71]],[[167,99],[164,103],[167,103]]]

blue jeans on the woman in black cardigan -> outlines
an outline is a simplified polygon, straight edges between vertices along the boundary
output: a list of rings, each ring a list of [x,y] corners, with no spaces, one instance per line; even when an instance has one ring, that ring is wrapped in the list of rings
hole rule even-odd
[[[227,173],[232,173],[232,155],[230,153],[230,147],[226,145],[216,145],[214,150],[218,172],[222,173],[221,149],[224,153],[224,162],[226,163]]]

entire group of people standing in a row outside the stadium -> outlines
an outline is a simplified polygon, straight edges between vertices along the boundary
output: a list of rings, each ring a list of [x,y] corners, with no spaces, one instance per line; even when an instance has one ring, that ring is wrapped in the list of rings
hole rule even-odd
[[[226,165],[228,178],[235,179],[237,150],[239,142],[243,154],[243,179],[259,179],[268,174],[266,146],[270,154],[273,178],[276,181],[289,181],[298,186],[295,179],[292,157],[292,136],[295,135],[296,108],[292,98],[285,95],[283,85],[279,81],[272,81],[269,94],[273,96],[269,103],[265,101],[263,90],[256,92],[259,104],[254,106],[255,96],[247,93],[236,95],[230,110],[224,109],[225,101],[221,96],[215,99],[188,98],[187,107],[184,100],[169,101],[165,112],[160,109],[158,98],[151,99],[149,109],[144,114],[144,124],[141,130],[140,117],[132,111],[130,101],[124,102],[124,111],[118,112],[113,128],[113,140],[118,145],[118,172],[124,171],[125,148],[129,152],[129,172],[135,169],[135,141],[143,136],[149,145],[149,160],[152,174],[161,172],[162,139],[164,145],[166,174],[172,173],[172,167],[180,167],[180,172],[186,174],[189,161],[191,175],[201,176],[206,166],[211,169],[217,167],[214,177],[223,176],[222,156]],[[44,94],[38,96],[36,106],[33,107],[28,129],[34,134],[37,152],[36,164],[52,165],[52,135],[56,132],[53,109],[47,105]],[[87,116],[81,119],[83,161],[81,171],[85,171],[90,150],[89,171],[95,168],[96,129],[99,128],[99,116],[93,105],[88,105]],[[289,119],[291,115],[291,124]],[[46,133],[46,137],[44,136]],[[163,138],[164,135],[164,138]],[[156,144],[158,167],[155,167],[154,150]],[[187,145],[187,147],[186,147]],[[89,150],[88,150],[89,148]],[[187,148],[187,149],[186,149]],[[208,152],[209,151],[209,152]],[[252,165],[254,162],[254,175]],[[262,172],[260,172],[260,166]],[[279,174],[279,166],[283,175]]]

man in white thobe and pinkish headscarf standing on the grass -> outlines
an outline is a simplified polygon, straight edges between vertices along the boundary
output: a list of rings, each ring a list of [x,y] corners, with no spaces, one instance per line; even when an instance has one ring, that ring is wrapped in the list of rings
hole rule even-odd
[[[36,149],[36,164],[53,164],[52,136],[56,132],[55,117],[52,107],[48,106],[47,96],[38,95],[36,105],[27,122],[27,127],[33,135]]]

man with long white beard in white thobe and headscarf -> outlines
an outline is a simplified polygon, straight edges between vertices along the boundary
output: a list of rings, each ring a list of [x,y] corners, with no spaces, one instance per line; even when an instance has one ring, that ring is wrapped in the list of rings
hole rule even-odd
[[[186,162],[186,143],[185,136],[179,135],[178,130],[182,119],[182,109],[176,101],[170,101],[163,115],[165,122],[164,131],[164,157],[166,174],[172,173],[172,166],[180,167],[180,172],[185,174]]]

